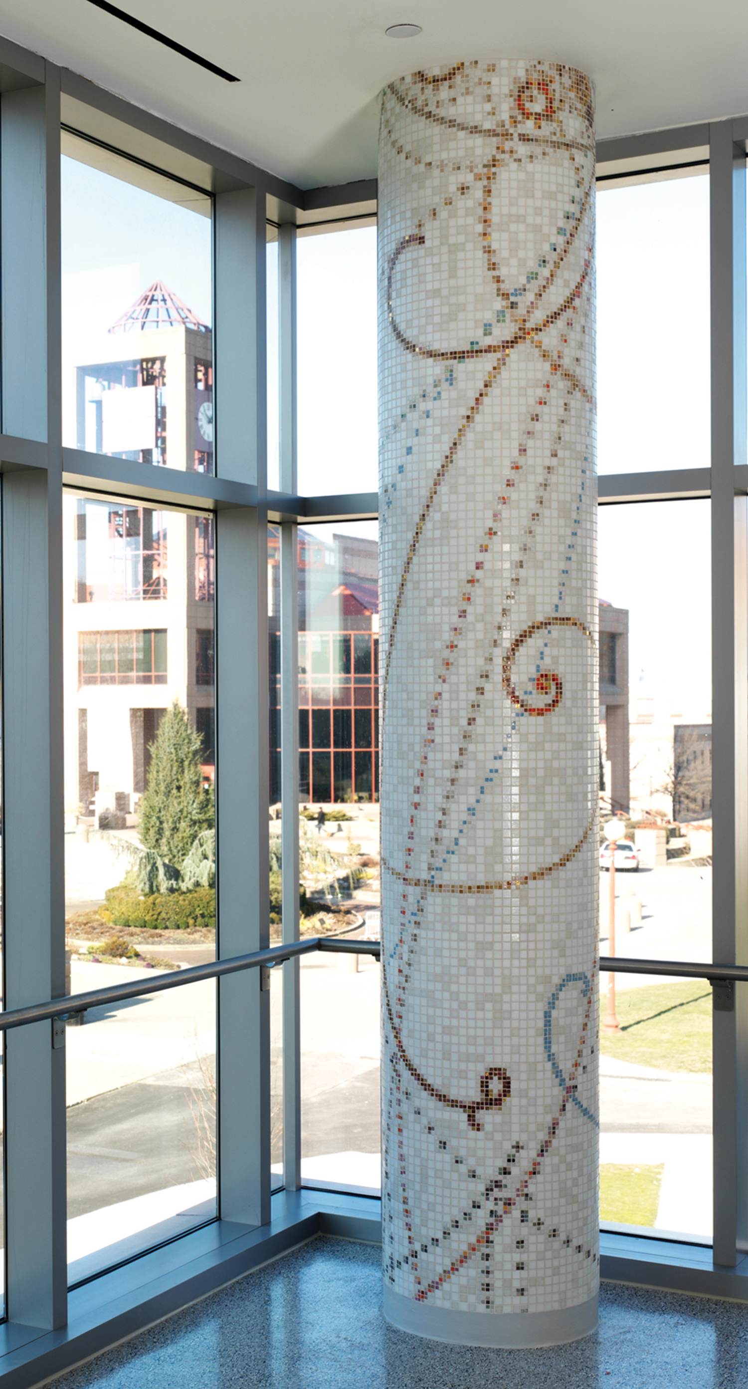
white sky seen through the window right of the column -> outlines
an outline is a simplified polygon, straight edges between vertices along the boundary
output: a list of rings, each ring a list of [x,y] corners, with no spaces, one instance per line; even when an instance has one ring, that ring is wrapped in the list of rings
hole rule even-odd
[[[598,471],[709,467],[709,179],[597,196]],[[629,608],[631,713],[711,717],[709,503],[598,508],[600,597]]]

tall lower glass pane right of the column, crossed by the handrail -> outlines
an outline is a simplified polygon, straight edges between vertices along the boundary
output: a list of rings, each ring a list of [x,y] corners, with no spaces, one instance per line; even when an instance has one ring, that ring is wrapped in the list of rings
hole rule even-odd
[[[709,563],[708,501],[600,507],[602,954],[712,958]],[[708,1242],[709,985],[602,975],[600,1013],[601,1220]]]

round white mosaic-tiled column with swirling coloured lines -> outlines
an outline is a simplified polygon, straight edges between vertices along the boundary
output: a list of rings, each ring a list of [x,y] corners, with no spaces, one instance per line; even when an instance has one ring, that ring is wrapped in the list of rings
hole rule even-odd
[[[384,1313],[597,1325],[588,79],[458,63],[379,156]]]

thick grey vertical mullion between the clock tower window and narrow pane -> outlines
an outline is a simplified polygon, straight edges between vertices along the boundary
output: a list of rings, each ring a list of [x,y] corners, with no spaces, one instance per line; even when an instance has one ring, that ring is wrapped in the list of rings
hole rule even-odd
[[[218,954],[269,940],[265,196],[215,199],[215,406],[221,478],[254,483],[257,508],[216,515]],[[232,975],[218,999],[222,1220],[271,1214],[269,990]]]

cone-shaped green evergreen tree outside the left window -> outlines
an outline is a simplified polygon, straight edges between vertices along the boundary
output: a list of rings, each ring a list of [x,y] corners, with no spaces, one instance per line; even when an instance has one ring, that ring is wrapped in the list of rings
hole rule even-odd
[[[148,783],[140,799],[140,842],[182,868],[198,835],[215,825],[212,788],[203,790],[203,739],[175,700],[150,745]]]

